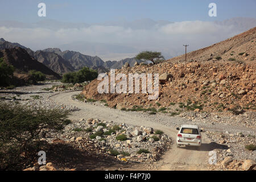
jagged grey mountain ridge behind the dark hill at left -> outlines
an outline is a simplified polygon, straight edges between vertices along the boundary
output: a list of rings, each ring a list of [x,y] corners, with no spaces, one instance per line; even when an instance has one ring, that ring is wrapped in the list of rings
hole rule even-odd
[[[52,71],[63,74],[68,72],[78,71],[83,67],[95,69],[98,73],[109,72],[110,69],[120,69],[129,63],[132,67],[135,62],[141,63],[142,60],[135,58],[127,58],[120,61],[106,61],[104,62],[98,56],[83,55],[76,51],[61,51],[59,48],[47,48],[39,51],[32,51],[30,48],[24,47],[19,43],[7,42],[5,39],[0,39],[0,50],[5,48],[20,47],[25,49],[30,56],[34,57],[40,63],[43,63]]]

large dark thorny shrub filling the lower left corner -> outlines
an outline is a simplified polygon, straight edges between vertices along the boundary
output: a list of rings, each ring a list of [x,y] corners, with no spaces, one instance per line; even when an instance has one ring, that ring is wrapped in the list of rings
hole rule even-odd
[[[20,170],[35,159],[40,138],[62,130],[71,121],[68,111],[0,104],[0,168]]]

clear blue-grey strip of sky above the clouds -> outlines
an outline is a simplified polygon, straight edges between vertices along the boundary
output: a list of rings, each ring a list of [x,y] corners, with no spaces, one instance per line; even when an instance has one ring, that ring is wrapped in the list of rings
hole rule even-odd
[[[109,20],[224,20],[233,17],[256,17],[255,0],[1,0],[0,19],[36,22],[38,4],[46,3],[47,18],[68,22],[99,23]],[[208,5],[217,5],[217,17],[208,16]]]

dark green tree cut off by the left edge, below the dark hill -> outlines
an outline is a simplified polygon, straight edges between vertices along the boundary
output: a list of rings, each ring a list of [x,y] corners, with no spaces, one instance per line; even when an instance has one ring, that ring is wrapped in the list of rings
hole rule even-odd
[[[8,65],[0,58],[0,85],[8,86],[10,85],[11,77],[13,77],[14,67]]]

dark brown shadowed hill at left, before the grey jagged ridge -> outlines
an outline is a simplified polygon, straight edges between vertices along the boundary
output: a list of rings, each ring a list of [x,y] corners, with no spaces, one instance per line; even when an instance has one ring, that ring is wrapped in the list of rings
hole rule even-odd
[[[28,52],[21,48],[9,48],[3,49],[0,51],[0,57],[3,57],[3,60],[9,64],[13,65],[15,68],[15,73],[28,73],[30,70],[36,70],[44,73],[45,75],[59,79],[60,76],[49,69],[46,65],[35,60],[34,57],[30,56]]]

